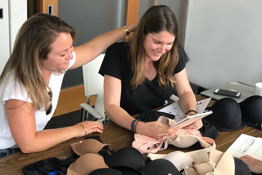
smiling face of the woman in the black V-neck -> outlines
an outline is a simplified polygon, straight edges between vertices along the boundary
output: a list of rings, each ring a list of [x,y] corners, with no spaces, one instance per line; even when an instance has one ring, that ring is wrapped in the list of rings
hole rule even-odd
[[[148,33],[144,39],[145,61],[157,61],[172,48],[175,36],[167,31]]]

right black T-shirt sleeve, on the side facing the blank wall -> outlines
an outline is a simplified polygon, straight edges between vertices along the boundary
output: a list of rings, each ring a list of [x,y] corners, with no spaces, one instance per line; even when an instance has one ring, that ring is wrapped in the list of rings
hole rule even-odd
[[[172,73],[173,75],[182,71],[186,67],[186,63],[189,61],[187,53],[185,52],[184,48],[181,46],[180,43],[178,43],[178,58],[179,61]]]

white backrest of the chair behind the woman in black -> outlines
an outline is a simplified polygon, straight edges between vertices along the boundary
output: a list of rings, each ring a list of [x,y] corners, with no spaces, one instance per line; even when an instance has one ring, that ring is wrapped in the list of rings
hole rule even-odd
[[[104,116],[104,77],[98,73],[105,54],[82,66],[85,96],[97,94],[95,110]],[[103,120],[103,119],[102,119]],[[102,122],[100,120],[99,122]]]

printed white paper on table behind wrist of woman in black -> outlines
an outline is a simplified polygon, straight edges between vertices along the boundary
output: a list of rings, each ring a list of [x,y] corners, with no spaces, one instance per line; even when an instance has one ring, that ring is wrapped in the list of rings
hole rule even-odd
[[[198,113],[201,114],[201,113],[204,112],[204,110],[207,107],[210,100],[211,100],[211,98],[207,98],[207,99],[196,102],[196,107],[197,107]],[[176,118],[174,118],[174,120],[177,121],[177,122],[182,120],[186,115],[184,113],[184,111],[182,110],[182,108],[180,107],[179,101],[174,102],[174,103],[168,105],[167,107],[160,109],[158,111],[175,115]]]

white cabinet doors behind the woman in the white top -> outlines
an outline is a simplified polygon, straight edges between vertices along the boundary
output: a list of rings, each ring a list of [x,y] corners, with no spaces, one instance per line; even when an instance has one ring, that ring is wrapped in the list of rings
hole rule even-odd
[[[27,0],[1,0],[0,74],[12,52],[17,31],[27,20]],[[0,10],[0,11],[1,11]]]

